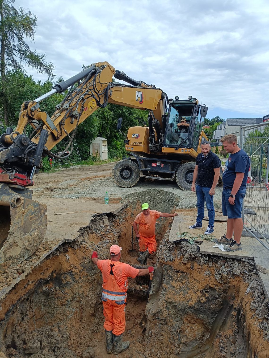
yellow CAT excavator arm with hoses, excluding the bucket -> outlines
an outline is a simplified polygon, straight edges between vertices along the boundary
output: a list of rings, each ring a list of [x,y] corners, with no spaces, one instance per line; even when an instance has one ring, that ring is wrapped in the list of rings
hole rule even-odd
[[[136,86],[112,82],[113,75]],[[80,81],[79,84],[74,86],[77,81]],[[54,93],[65,91],[70,86],[69,92],[56,106],[52,117],[40,110],[39,102]],[[161,89],[135,81],[123,72],[115,71],[107,62],[92,65],[71,79],[56,84],[46,95],[23,103],[16,129],[8,129],[0,137],[0,166],[3,169],[0,183],[12,181],[24,187],[33,185],[33,175],[36,168],[41,168],[42,157],[47,154],[59,157],[50,150],[66,136],[72,150],[72,139],[77,127],[95,110],[105,107],[108,103],[149,110],[150,134],[155,136],[155,127],[160,135],[165,117],[165,100],[166,95]],[[27,125],[33,128],[30,138],[24,134]],[[65,152],[68,148],[60,157],[67,156]],[[14,169],[15,178],[9,179],[7,174],[14,172]]]

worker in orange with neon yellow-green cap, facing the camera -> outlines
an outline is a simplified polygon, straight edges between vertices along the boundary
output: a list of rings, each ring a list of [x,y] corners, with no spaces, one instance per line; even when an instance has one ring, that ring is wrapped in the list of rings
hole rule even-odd
[[[159,217],[170,218],[173,216],[178,216],[178,214],[160,213],[156,210],[150,210],[148,203],[142,204],[142,213],[136,216],[133,223],[140,251],[140,257],[137,258],[137,261],[140,262],[141,265],[145,265],[147,258],[157,249],[157,242],[155,240],[156,219]],[[137,224],[139,224],[139,230],[137,229]]]

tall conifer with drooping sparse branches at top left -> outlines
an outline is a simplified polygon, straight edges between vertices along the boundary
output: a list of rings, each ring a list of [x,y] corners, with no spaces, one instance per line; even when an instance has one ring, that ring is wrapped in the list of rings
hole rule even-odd
[[[16,9],[14,0],[0,0],[0,77],[1,77],[1,102],[3,106],[2,121],[7,125],[10,119],[8,102],[8,80],[6,73],[8,69],[22,69],[22,64],[26,63],[41,73],[46,73],[49,78],[53,77],[54,69],[52,63],[46,61],[45,54],[40,54],[36,50],[32,51],[25,39],[34,41],[36,33],[37,17],[31,11],[25,11],[19,7]]]

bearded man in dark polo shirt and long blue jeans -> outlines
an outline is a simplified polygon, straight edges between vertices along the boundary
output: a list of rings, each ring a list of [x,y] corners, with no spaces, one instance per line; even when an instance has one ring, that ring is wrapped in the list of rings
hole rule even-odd
[[[193,172],[192,192],[197,197],[197,218],[196,223],[189,226],[189,229],[202,228],[202,220],[204,218],[204,202],[208,210],[208,228],[204,232],[206,235],[214,232],[215,210],[213,204],[213,195],[215,194],[216,185],[220,178],[220,158],[211,151],[209,141],[203,141],[200,145],[201,152],[196,157],[196,165]]]

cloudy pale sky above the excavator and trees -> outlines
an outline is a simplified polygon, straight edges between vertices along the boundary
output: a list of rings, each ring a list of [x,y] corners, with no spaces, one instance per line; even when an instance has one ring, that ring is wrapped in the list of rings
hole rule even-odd
[[[57,76],[107,61],[169,98],[198,98],[208,118],[269,114],[266,0],[15,0],[15,6],[37,15],[30,46],[46,53]]]

